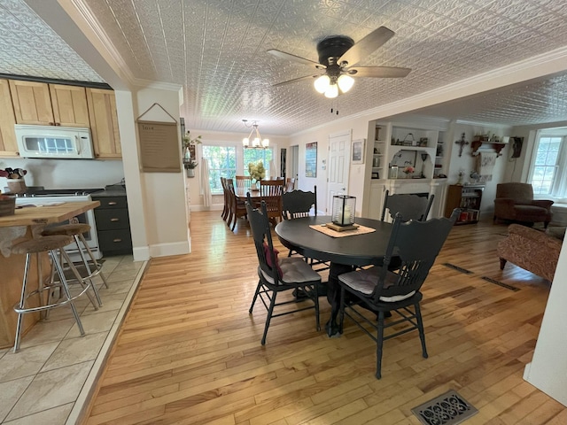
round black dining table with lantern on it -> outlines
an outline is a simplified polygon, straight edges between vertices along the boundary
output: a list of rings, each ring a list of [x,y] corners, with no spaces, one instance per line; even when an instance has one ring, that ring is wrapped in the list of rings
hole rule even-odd
[[[286,248],[304,257],[330,261],[327,300],[331,306],[330,320],[325,325],[328,336],[338,336],[340,287],[338,275],[355,267],[381,265],[392,233],[392,223],[356,218],[355,223],[375,231],[362,235],[333,237],[310,226],[330,223],[330,216],[311,216],[283,220],[276,226],[276,235]]]

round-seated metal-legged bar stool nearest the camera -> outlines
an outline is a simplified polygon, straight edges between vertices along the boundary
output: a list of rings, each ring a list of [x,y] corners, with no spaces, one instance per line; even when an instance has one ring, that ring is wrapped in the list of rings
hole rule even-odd
[[[16,326],[16,338],[14,342],[14,349],[13,352],[19,352],[19,343],[21,340],[21,330],[23,324],[23,316],[26,313],[35,313],[35,312],[46,312],[51,308],[55,308],[61,305],[70,305],[71,310],[73,311],[74,320],[77,322],[77,326],[79,327],[79,332],[81,336],[85,335],[85,331],[82,328],[81,319],[79,319],[79,313],[74,306],[73,300],[75,298],[81,297],[84,293],[88,294],[89,285],[84,285],[82,282],[82,291],[71,297],[71,292],[69,291],[69,287],[67,285],[65,273],[63,271],[63,267],[58,257],[58,252],[61,253],[66,261],[71,262],[67,253],[63,249],[64,246],[68,245],[69,243],[73,242],[73,237],[71,236],[43,236],[36,239],[29,239],[24,242],[16,243],[12,246],[12,253],[14,254],[26,254],[26,265],[24,267],[24,280],[22,282],[21,288],[21,297],[19,298],[19,304],[14,305],[14,311],[18,313],[18,324]],[[39,254],[42,252],[48,252],[51,259],[51,278],[50,284],[44,285],[42,272],[41,272],[41,259]],[[37,290],[33,290],[29,294],[27,294],[27,275],[29,274],[29,269],[31,265],[32,255],[35,254],[35,259],[37,260],[37,267],[38,267],[38,287]],[[73,264],[73,263],[71,263]],[[54,267],[54,269],[53,269]],[[75,269],[76,270],[76,269]],[[55,282],[53,279],[53,275],[57,273],[59,277],[59,282]],[[59,287],[62,291],[61,297],[58,299],[57,302],[51,301],[50,293],[55,288]],[[47,304],[44,303],[43,292],[47,291],[49,294]],[[40,305],[37,307],[26,307],[26,300],[34,295],[38,295],[40,299]]]

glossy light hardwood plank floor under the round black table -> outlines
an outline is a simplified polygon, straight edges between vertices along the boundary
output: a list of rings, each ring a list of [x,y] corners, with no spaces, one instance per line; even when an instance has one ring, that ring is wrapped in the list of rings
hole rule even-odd
[[[219,212],[191,213],[190,230],[190,255],[151,260],[84,423],[419,424],[411,408],[451,389],[478,408],[468,425],[567,423],[567,408],[522,378],[549,283],[501,272],[506,226],[452,230],[423,285],[430,357],[415,332],[386,341],[381,380],[376,344],[349,321],[339,338],[315,331],[313,310],[274,319],[262,347],[245,220],[233,233]]]

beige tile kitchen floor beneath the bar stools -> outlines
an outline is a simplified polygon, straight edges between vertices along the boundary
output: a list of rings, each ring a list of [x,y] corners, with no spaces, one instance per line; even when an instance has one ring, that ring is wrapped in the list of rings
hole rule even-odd
[[[22,338],[18,353],[0,349],[0,423],[77,421],[145,266],[131,256],[105,259],[109,288],[97,277],[103,306],[95,310],[88,298],[75,301],[86,336],[80,336],[71,309],[62,306]]]

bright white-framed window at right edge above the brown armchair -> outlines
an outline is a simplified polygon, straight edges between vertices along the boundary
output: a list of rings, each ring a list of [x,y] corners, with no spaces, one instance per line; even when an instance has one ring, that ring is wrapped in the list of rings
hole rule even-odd
[[[567,128],[542,130],[536,144],[530,177],[533,194],[548,197],[567,197]]]

